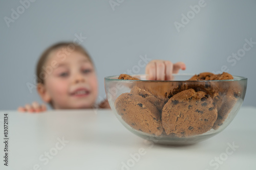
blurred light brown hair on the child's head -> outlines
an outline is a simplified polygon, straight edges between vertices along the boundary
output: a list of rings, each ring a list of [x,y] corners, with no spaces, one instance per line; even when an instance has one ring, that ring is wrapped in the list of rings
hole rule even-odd
[[[45,83],[44,78],[41,77],[41,73],[44,72],[44,69],[42,69],[42,67],[46,64],[46,61],[47,61],[50,53],[59,49],[59,48],[61,48],[61,47],[72,48],[71,51],[80,52],[84,56],[88,57],[89,61],[93,64],[93,61],[92,61],[90,55],[88,54],[86,49],[84,49],[81,45],[79,45],[77,43],[74,43],[74,42],[58,42],[58,43],[55,43],[55,44],[51,45],[50,47],[48,47],[41,54],[41,56],[40,56],[40,58],[37,62],[37,65],[36,65],[36,82],[37,83],[42,83],[42,84]]]

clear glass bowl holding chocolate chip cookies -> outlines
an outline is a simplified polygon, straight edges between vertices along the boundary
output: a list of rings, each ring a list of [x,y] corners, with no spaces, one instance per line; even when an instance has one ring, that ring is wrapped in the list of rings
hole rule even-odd
[[[172,81],[104,79],[105,92],[118,120],[135,135],[161,144],[184,145],[223,131],[244,101],[247,78],[187,81],[194,74],[174,74]]]

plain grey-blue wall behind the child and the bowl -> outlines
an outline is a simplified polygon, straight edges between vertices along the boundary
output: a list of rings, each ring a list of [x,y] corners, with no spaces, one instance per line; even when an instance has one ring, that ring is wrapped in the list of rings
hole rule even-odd
[[[113,10],[108,0],[37,0],[8,28],[4,17],[11,18],[11,9],[17,11],[21,4],[1,1],[0,109],[41,102],[36,90],[30,92],[26,85],[34,83],[39,55],[49,45],[80,33],[87,37],[82,46],[97,68],[99,96],[104,97],[104,77],[134,68],[139,56],[146,55],[184,61],[183,73],[219,71],[226,65],[230,74],[248,78],[244,105],[255,106],[256,45],[234,66],[227,57],[243,48],[245,39],[256,41],[256,1],[205,0],[206,6],[178,33],[174,22],[181,22],[181,14],[198,2],[124,0]]]

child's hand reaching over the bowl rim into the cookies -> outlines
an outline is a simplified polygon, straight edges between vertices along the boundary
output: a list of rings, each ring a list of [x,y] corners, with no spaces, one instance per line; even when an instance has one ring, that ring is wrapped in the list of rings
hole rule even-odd
[[[147,80],[172,80],[172,74],[177,74],[179,70],[185,70],[183,62],[173,64],[167,60],[152,60],[146,65]]]

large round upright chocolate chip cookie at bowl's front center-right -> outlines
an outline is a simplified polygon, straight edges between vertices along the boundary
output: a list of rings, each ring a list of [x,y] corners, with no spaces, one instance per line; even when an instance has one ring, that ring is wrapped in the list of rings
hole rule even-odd
[[[167,135],[199,135],[214,126],[217,116],[217,108],[209,95],[188,89],[175,94],[164,105],[162,125]]]

